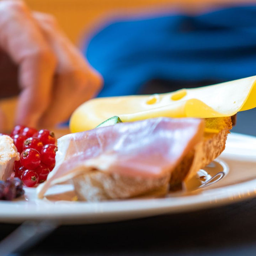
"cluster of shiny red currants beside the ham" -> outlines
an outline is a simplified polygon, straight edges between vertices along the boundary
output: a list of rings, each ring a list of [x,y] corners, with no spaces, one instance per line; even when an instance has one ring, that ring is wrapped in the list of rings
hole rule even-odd
[[[46,129],[36,130],[30,127],[15,126],[11,132],[20,161],[15,161],[15,177],[27,187],[46,180],[55,166],[55,136]]]

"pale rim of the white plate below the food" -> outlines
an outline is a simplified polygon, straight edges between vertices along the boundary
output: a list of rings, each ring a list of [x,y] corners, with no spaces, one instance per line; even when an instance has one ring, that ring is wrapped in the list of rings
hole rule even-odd
[[[246,134],[231,133],[229,134],[230,137],[233,140],[242,140],[244,143],[246,141],[251,143],[252,139],[256,142],[256,137]],[[225,155],[225,151],[223,155]],[[26,188],[26,191],[31,189],[35,190],[35,188]],[[223,206],[253,197],[256,197],[256,178],[234,185],[205,190],[204,193],[182,197],[127,199],[105,202],[51,202],[42,200],[30,203],[29,201],[1,201],[0,222],[20,223],[28,219],[58,219],[65,224],[101,223],[166,213],[189,212]],[[17,204],[16,202],[20,203]],[[74,205],[75,207],[72,207]],[[136,209],[134,206],[136,206]],[[21,208],[23,208],[22,211]]]

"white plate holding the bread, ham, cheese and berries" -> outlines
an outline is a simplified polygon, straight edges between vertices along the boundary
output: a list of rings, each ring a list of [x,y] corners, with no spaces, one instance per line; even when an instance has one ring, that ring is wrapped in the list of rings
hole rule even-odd
[[[38,200],[35,189],[26,188],[25,199],[0,202],[0,222],[21,223],[32,219],[53,219],[62,224],[112,222],[214,207],[256,196],[256,137],[230,134],[217,164],[223,167],[223,178],[218,176],[215,180],[219,180],[208,182],[208,186],[187,193],[170,193],[166,198],[100,203],[56,201],[60,191],[66,191],[66,198],[74,196],[71,185],[58,185],[49,192],[57,196]]]

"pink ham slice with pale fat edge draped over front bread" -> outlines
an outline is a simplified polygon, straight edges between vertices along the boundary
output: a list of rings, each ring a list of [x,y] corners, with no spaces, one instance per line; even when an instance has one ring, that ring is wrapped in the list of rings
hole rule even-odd
[[[73,133],[58,139],[56,166],[38,186],[48,188],[95,170],[129,180],[170,177],[203,138],[204,122],[193,118],[153,118]]]

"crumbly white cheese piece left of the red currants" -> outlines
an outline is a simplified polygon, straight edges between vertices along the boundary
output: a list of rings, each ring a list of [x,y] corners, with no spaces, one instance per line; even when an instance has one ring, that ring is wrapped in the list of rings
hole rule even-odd
[[[0,180],[6,180],[13,172],[14,162],[20,160],[14,141],[8,135],[0,135]]]

